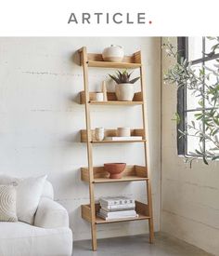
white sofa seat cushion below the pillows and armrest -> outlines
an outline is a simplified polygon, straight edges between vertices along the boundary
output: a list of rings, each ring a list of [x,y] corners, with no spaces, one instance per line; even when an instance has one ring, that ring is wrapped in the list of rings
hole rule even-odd
[[[45,229],[24,222],[0,222],[0,255],[70,256],[68,227]]]

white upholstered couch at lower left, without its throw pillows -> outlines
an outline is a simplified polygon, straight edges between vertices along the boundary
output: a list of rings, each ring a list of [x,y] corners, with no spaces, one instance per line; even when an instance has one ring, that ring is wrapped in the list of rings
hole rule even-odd
[[[0,184],[12,182],[1,179]],[[66,209],[54,200],[53,187],[45,182],[34,218],[25,222],[0,222],[1,256],[71,256],[72,233]]]

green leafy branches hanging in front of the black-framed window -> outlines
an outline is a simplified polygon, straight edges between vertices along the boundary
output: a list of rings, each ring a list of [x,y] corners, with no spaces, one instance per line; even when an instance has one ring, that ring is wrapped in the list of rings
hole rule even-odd
[[[204,53],[204,56],[213,58],[219,49],[219,37],[208,37],[213,40],[212,51]],[[197,157],[202,157],[207,165],[209,160],[219,159],[219,60],[214,59],[212,68],[206,65],[193,65],[181,56],[181,51],[177,50],[170,42],[163,44],[167,56],[174,58],[175,63],[164,74],[165,84],[175,84],[177,88],[187,88],[194,98],[198,98],[197,111],[191,123],[186,120],[186,129],[179,130],[180,137],[191,136],[199,139],[199,148],[186,157],[187,162],[191,162]],[[181,122],[176,115],[177,122]],[[205,142],[206,146],[203,146]]]

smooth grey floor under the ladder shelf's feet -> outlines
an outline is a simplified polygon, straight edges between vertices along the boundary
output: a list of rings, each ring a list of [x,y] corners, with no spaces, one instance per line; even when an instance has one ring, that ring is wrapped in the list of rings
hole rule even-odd
[[[97,252],[91,241],[74,243],[73,256],[210,256],[202,249],[164,234],[156,234],[155,243],[148,244],[148,236],[127,236],[98,239]]]

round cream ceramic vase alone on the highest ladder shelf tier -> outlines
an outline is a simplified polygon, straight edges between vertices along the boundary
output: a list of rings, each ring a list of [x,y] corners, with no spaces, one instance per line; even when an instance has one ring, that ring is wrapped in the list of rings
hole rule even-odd
[[[121,46],[111,45],[103,50],[102,57],[104,61],[121,62],[124,57],[124,51]]]

